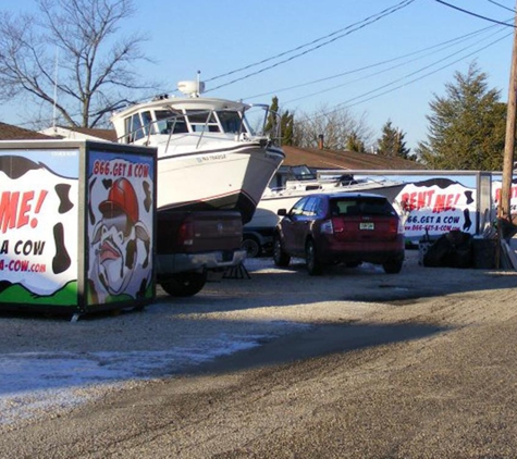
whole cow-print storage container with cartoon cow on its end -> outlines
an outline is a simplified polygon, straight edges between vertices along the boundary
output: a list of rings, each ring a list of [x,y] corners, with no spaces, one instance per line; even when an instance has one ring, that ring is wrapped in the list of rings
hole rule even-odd
[[[0,141],[0,309],[153,301],[156,162],[147,147]]]

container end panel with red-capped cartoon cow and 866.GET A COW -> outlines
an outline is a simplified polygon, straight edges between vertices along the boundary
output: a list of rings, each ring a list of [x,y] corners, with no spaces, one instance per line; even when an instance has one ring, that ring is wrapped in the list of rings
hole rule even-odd
[[[88,156],[88,303],[152,295],[153,157]]]

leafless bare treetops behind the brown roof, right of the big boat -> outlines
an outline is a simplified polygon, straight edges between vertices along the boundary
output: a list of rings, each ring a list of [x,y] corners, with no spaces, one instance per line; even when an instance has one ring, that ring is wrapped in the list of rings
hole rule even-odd
[[[345,150],[350,136],[362,145],[368,144],[372,136],[365,116],[356,119],[346,110],[331,111],[325,108],[311,114],[297,115],[294,128],[294,144],[303,148],[315,148],[320,136],[323,136],[324,148]]]

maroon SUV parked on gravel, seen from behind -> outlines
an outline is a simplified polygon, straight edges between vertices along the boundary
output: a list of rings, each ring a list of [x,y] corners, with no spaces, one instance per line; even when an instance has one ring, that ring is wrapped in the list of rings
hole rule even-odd
[[[291,257],[305,258],[310,275],[323,266],[362,262],[382,264],[398,273],[404,262],[404,230],[384,196],[355,193],[322,193],[297,201],[276,225],[273,259],[287,266]]]

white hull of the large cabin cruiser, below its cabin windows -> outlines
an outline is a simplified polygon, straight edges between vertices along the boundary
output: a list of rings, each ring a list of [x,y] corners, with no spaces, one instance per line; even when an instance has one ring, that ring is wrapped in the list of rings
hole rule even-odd
[[[282,150],[259,142],[182,154],[158,154],[157,208],[237,210],[243,223],[284,160]]]

